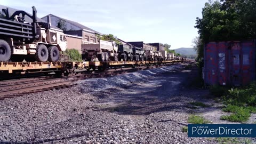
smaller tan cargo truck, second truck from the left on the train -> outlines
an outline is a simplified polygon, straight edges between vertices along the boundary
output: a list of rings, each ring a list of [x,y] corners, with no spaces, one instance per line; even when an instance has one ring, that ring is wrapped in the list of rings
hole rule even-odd
[[[99,44],[82,44],[82,58],[86,61],[118,61],[116,42],[100,40]]]

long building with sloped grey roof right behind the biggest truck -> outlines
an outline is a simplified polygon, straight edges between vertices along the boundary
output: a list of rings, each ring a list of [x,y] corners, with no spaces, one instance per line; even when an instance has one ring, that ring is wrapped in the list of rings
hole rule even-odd
[[[42,19],[51,23],[51,25],[54,27],[57,27],[58,23],[61,23],[62,30],[68,37],[68,49],[77,49],[79,52],[81,52],[81,44],[99,43],[97,35],[102,35],[98,31],[81,25],[78,22],[63,19],[53,14],[48,14]]]

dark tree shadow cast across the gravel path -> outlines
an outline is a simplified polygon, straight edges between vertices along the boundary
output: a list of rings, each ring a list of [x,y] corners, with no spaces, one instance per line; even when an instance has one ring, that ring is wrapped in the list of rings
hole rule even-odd
[[[191,111],[188,102],[200,100],[207,90],[198,89],[198,69],[172,71],[156,76],[150,84],[135,84],[127,94],[110,100],[103,111],[121,115],[149,115],[161,111]],[[209,109],[210,110],[210,109]]]

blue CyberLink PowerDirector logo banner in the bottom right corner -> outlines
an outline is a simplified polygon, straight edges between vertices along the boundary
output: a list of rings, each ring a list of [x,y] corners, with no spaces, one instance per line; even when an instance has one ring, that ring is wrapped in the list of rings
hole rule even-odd
[[[256,137],[256,124],[188,124],[188,137]]]

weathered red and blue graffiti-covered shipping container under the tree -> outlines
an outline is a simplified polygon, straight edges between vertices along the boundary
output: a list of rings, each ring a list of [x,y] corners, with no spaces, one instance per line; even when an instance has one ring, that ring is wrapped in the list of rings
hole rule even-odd
[[[210,42],[204,47],[206,85],[246,85],[255,81],[255,42]]]

